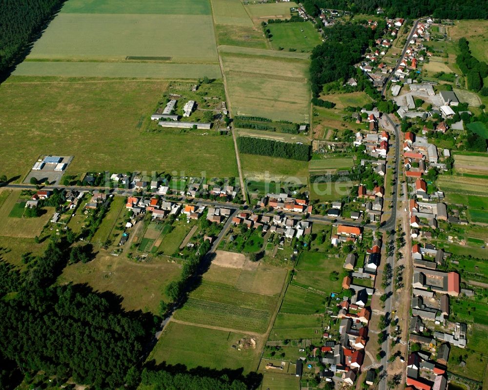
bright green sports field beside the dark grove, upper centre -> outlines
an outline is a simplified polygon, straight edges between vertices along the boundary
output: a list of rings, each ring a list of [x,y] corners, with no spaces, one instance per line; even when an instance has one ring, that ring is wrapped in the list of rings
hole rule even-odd
[[[267,28],[271,31],[270,38],[273,49],[310,52],[322,43],[322,38],[317,29],[309,21],[295,23],[271,23]]]

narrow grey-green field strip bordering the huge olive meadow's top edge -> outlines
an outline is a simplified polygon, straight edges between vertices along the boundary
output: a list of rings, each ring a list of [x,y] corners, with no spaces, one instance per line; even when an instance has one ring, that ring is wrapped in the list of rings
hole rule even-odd
[[[149,62],[33,62],[24,61],[15,76],[111,77],[197,79],[222,78],[217,64],[149,63]]]

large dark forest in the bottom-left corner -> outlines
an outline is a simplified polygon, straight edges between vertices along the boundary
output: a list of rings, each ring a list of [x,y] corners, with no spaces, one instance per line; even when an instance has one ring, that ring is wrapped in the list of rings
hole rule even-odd
[[[73,249],[65,236],[49,240],[22,273],[0,261],[0,360],[11,367],[0,371],[1,388],[16,372],[43,370],[115,389],[140,361],[159,319],[124,311],[111,293],[53,286]]]

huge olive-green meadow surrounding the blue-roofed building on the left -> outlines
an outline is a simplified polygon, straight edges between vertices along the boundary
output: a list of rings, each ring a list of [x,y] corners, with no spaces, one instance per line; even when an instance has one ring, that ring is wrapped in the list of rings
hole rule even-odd
[[[49,153],[75,156],[69,174],[175,170],[182,176],[235,176],[231,137],[143,131],[166,88],[167,82],[155,80],[10,77],[0,85],[3,172],[23,176]]]

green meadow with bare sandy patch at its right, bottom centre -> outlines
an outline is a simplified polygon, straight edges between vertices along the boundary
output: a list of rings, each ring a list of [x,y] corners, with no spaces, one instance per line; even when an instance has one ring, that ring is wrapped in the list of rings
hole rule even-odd
[[[243,367],[247,373],[258,368],[262,342],[259,338],[255,339],[256,349],[232,348],[244,337],[249,336],[170,322],[149,355],[149,360],[154,359],[157,364],[184,364],[190,369],[198,366],[212,369]]]

